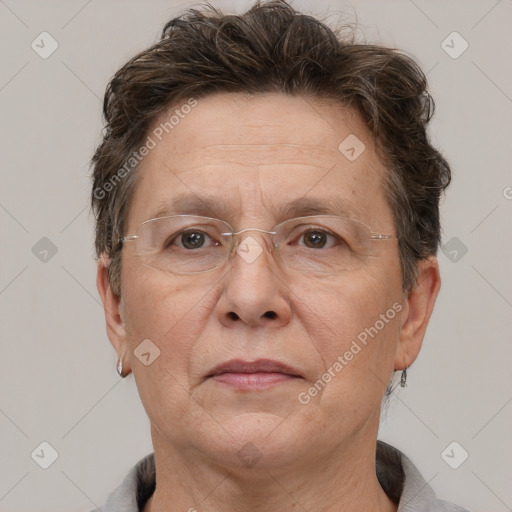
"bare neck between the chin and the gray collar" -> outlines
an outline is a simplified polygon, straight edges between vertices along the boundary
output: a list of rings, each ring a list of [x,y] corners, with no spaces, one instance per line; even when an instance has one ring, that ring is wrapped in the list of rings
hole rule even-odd
[[[144,512],[396,512],[375,471],[375,442],[339,445],[293,467],[240,468],[176,449],[153,432],[157,484]],[[172,507],[172,508],[171,508]]]

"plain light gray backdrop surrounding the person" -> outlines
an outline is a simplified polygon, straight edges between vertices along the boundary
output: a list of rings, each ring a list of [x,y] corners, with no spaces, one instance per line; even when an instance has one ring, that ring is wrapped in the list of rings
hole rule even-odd
[[[251,4],[212,3],[231,12]],[[105,333],[88,161],[109,78],[165,21],[197,4],[0,0],[2,511],[90,510],[152,451],[133,377],[117,376]],[[328,11],[332,23],[343,11],[367,41],[406,50],[428,73],[437,104],[431,135],[453,168],[442,203],[443,286],[380,437],[440,497],[473,512],[512,510],[512,1],[293,5]],[[58,43],[46,59],[31,47],[42,46],[44,31]],[[453,58],[464,41],[467,50]],[[31,456],[43,441],[58,453],[48,469]],[[442,457],[453,441],[452,465],[469,454],[457,469]]]

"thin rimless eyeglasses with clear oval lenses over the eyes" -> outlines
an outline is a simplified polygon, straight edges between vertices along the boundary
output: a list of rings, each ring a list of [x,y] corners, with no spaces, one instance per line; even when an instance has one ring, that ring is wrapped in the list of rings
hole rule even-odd
[[[134,242],[135,254],[154,269],[177,274],[208,272],[223,265],[237,246],[235,236],[259,231],[272,236],[270,252],[284,266],[306,273],[336,274],[354,270],[377,255],[375,242],[394,238],[374,233],[354,219],[336,215],[288,219],[270,231],[246,228],[234,232],[222,220],[194,215],[150,219],[135,234],[121,238]],[[247,262],[263,252],[254,237],[238,244],[237,253]]]

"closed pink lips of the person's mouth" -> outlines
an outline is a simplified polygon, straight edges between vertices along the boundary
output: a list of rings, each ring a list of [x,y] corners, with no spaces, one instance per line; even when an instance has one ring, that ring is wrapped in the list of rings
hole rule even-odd
[[[240,390],[264,389],[301,379],[298,370],[279,361],[232,359],[213,368],[207,379]]]

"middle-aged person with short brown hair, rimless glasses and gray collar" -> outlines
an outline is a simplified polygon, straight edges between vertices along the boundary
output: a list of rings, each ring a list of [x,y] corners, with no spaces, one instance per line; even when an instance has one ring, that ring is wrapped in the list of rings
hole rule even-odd
[[[433,110],[411,58],[284,0],[190,9],[115,74],[97,286],[154,453],[103,512],[463,510],[377,440],[440,288]]]

